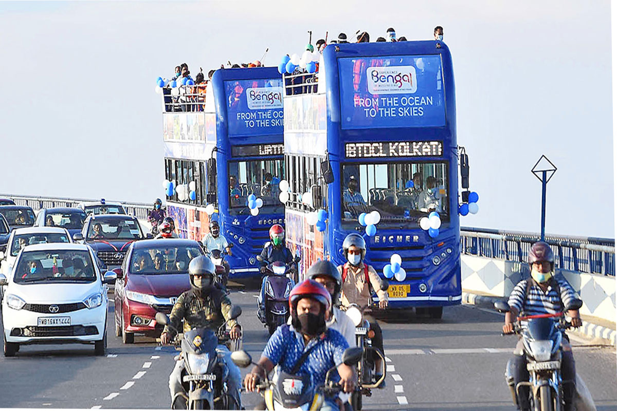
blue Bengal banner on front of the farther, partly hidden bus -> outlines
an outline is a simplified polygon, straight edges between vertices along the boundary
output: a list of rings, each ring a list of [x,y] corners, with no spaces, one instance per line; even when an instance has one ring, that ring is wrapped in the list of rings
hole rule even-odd
[[[283,134],[283,81],[256,79],[225,81],[228,134]]]

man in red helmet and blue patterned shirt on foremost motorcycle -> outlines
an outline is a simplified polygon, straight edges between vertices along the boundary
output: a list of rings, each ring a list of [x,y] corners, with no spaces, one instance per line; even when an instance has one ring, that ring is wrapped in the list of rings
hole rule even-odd
[[[291,373],[294,367],[299,366],[296,375],[309,374],[314,386],[323,385],[326,372],[342,363],[342,354],[349,346],[341,333],[326,328],[330,306],[330,294],[314,280],[304,280],[291,290],[289,311],[292,324],[281,325],[270,337],[257,363],[263,370],[253,367],[244,378],[247,391],[255,391],[260,378],[265,378],[263,371],[270,373],[275,365],[286,373]],[[304,361],[296,365],[304,353],[307,353]],[[355,386],[354,368],[341,364],[337,370],[343,391],[352,392]],[[329,398],[325,399],[321,407],[321,411],[338,409],[339,405]]]

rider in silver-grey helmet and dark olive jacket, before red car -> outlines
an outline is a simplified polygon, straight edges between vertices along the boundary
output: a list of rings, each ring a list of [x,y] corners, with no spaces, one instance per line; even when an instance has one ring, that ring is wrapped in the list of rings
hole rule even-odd
[[[207,327],[216,332],[218,328],[227,320],[231,327],[230,337],[237,340],[241,336],[240,326],[236,320],[230,320],[231,301],[222,291],[214,286],[215,266],[207,256],[198,256],[191,260],[189,264],[189,278],[191,279],[191,290],[184,291],[178,297],[178,301],[173,304],[172,313],[169,315],[171,326],[166,325],[160,335],[162,344],[169,344],[176,330],[180,330],[181,321],[184,320],[184,332],[192,328]],[[224,355],[225,364],[229,369],[228,389],[230,395],[240,403],[240,389],[242,378],[240,368],[231,361],[231,352],[224,346],[219,345],[217,352]],[[184,370],[182,359],[176,361],[171,375],[169,376],[169,391],[172,401],[176,393],[184,392],[181,383],[181,373]],[[186,403],[182,397],[177,397],[172,404],[173,409],[184,409]],[[239,408],[239,407],[238,407]]]

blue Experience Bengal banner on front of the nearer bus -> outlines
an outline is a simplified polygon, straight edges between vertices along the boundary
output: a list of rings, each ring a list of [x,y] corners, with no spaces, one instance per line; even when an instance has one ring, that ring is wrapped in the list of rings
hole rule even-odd
[[[341,128],[445,126],[440,55],[339,59]]]

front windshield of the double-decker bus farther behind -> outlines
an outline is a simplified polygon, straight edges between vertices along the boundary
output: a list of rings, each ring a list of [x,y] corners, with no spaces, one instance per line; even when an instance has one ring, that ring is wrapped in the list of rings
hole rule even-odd
[[[230,208],[246,207],[251,194],[261,198],[263,205],[281,205],[278,183],[285,178],[282,158],[230,162],[229,176]]]

